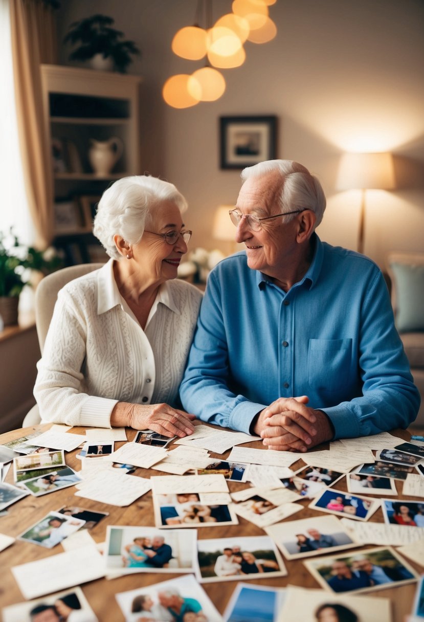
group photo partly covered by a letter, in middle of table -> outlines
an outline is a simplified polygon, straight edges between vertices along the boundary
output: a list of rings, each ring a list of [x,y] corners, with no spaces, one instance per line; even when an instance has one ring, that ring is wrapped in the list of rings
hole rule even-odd
[[[153,508],[155,525],[163,529],[238,524],[230,506],[200,503],[198,493],[154,494]]]

